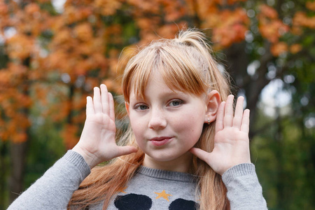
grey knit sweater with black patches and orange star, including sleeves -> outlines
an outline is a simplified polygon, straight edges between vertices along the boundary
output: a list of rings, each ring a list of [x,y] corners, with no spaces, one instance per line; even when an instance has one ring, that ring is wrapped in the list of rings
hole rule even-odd
[[[90,167],[81,155],[68,151],[29,187],[8,210],[66,209],[80,183],[90,174]],[[112,200],[108,209],[196,209],[195,176],[139,167],[126,188]],[[252,164],[241,164],[223,174],[228,188],[231,209],[267,209],[262,188]],[[71,208],[75,209],[75,208]],[[102,209],[102,203],[90,205]]]

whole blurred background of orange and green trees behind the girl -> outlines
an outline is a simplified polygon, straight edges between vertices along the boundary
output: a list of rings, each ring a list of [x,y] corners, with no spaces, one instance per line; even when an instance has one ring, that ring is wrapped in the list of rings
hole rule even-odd
[[[0,209],[76,144],[92,87],[119,96],[134,49],[188,27],[251,109],[269,209],[315,209],[314,14],[311,0],[0,0]]]

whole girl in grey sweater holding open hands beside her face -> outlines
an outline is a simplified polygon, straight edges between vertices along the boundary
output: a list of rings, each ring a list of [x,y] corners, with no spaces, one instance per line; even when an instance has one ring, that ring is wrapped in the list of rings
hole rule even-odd
[[[151,43],[123,75],[130,127],[121,146],[113,97],[94,87],[78,144],[9,209],[267,209],[249,111],[239,97],[234,113],[229,93],[200,31]]]

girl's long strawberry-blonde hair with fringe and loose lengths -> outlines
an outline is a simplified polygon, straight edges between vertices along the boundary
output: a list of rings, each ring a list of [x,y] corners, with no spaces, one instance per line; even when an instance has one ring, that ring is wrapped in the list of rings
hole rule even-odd
[[[217,90],[221,100],[230,94],[227,74],[219,71],[218,64],[211,56],[211,48],[204,34],[196,30],[180,31],[174,39],[153,41],[140,50],[127,63],[123,74],[123,94],[129,102],[130,91],[145,98],[144,92],[153,71],[159,71],[171,90],[179,90],[201,96],[211,90]],[[120,139],[122,145],[137,147],[134,135],[129,127]],[[204,125],[202,135],[196,147],[211,152],[214,148],[214,123]],[[69,204],[86,207],[88,204],[102,202],[106,209],[111,198],[127,184],[144,161],[144,153],[138,151],[113,160],[106,167],[92,169],[90,176],[73,193]],[[229,209],[226,188],[219,174],[207,163],[194,158],[191,173],[197,177],[197,200],[200,209]],[[117,176],[124,174],[124,176]],[[106,195],[106,196],[104,196]]]

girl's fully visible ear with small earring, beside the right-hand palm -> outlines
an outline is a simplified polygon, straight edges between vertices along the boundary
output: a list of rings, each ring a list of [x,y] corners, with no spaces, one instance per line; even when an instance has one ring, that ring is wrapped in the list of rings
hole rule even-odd
[[[207,97],[207,113],[204,116],[204,123],[212,123],[216,120],[216,113],[221,104],[221,96],[217,90],[211,90]]]

